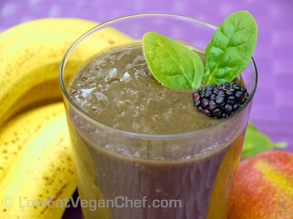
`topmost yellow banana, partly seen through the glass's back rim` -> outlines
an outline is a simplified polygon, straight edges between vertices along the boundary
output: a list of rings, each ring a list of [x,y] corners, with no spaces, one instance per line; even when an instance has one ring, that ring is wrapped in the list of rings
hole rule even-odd
[[[69,46],[97,24],[75,18],[46,18],[0,34],[0,125],[22,111],[62,100],[58,80],[61,60]],[[88,39],[71,56],[73,65],[79,66],[102,46],[129,37],[105,28]]]

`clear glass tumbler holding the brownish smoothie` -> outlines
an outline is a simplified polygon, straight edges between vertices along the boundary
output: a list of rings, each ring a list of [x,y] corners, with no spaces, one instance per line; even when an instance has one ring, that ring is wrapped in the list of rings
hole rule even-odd
[[[68,49],[60,80],[85,219],[227,217],[257,86],[253,59],[241,74],[250,94],[246,103],[220,123],[192,132],[147,135],[115,129],[82,112],[67,91],[81,64],[109,46],[154,31],[205,51],[216,28],[183,16],[134,15],[96,26]]]

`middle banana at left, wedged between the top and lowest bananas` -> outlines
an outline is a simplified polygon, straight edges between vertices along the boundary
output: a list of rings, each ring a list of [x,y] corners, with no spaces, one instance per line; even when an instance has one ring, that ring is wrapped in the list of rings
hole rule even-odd
[[[58,102],[20,114],[0,127],[0,182],[28,140],[37,131],[64,112]]]

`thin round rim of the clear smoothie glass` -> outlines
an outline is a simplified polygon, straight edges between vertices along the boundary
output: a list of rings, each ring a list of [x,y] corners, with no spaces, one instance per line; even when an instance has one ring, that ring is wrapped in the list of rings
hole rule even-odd
[[[224,126],[225,124],[229,123],[230,121],[232,121],[236,116],[238,116],[243,110],[246,109],[246,107],[250,104],[250,102],[252,101],[252,98],[255,94],[256,88],[257,88],[257,82],[258,82],[258,74],[257,74],[257,67],[255,64],[255,61],[253,59],[253,57],[251,57],[251,60],[249,62],[249,64],[252,64],[252,68],[253,68],[253,74],[254,74],[254,83],[253,83],[253,87],[252,87],[252,91],[251,94],[249,95],[249,98],[247,99],[247,101],[242,105],[242,107],[240,107],[239,110],[237,110],[237,112],[233,113],[231,116],[229,116],[228,118],[223,119],[223,121],[220,121],[219,123],[203,128],[203,129],[198,129],[198,130],[194,130],[194,131],[188,131],[188,132],[182,132],[182,133],[173,133],[173,134],[142,134],[142,133],[136,133],[136,132],[130,132],[130,131],[125,131],[122,129],[117,129],[114,128],[110,125],[107,125],[105,123],[102,123],[100,121],[95,120],[94,118],[92,118],[91,116],[87,115],[85,112],[83,112],[69,97],[67,90],[65,88],[64,82],[63,82],[63,69],[65,66],[65,63],[67,61],[67,58],[69,57],[70,53],[72,52],[72,50],[76,47],[76,45],[82,41],[84,38],[86,38],[88,35],[90,35],[91,33],[95,32],[97,29],[102,28],[105,25],[108,25],[109,23],[113,23],[115,21],[118,20],[122,20],[122,19],[128,19],[131,17],[149,17],[149,16],[159,16],[159,17],[177,17],[177,18],[184,18],[184,19],[189,19],[189,20],[193,20],[193,21],[197,21],[197,22],[201,22],[204,23],[206,25],[209,25],[211,28],[214,28],[215,30],[218,28],[217,26],[208,23],[206,21],[200,20],[200,19],[196,19],[196,18],[191,18],[191,17],[187,17],[187,16],[181,16],[181,15],[173,15],[173,14],[161,14],[161,13],[151,13],[151,14],[137,14],[137,15],[129,15],[129,16],[124,16],[124,17],[120,17],[120,18],[116,18],[104,23],[101,23],[93,28],[91,28],[90,30],[86,31],[84,34],[82,34],[78,39],[76,39],[71,46],[68,48],[68,50],[66,51],[62,61],[61,61],[61,65],[60,65],[60,70],[59,70],[59,81],[60,81],[60,85],[61,85],[61,89],[62,89],[62,93],[64,94],[65,98],[69,101],[70,105],[73,106],[73,108],[78,111],[78,113],[82,114],[82,116],[84,116],[87,120],[89,120],[91,123],[96,124],[97,126],[103,126],[104,128],[111,130],[111,131],[116,131],[119,132],[121,134],[125,134],[125,135],[129,135],[129,136],[133,136],[133,137],[145,137],[145,138],[177,138],[177,137],[185,137],[185,136],[189,136],[189,135],[194,135],[194,134],[201,134],[204,132],[208,132],[214,128],[218,128],[220,126]],[[64,101],[64,100],[63,100]]]

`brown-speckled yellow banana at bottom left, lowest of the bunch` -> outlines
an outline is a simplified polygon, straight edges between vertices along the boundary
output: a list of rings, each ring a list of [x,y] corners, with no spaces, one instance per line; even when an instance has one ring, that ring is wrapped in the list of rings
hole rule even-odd
[[[65,112],[56,114],[26,142],[0,183],[1,219],[62,217],[76,176]]]

